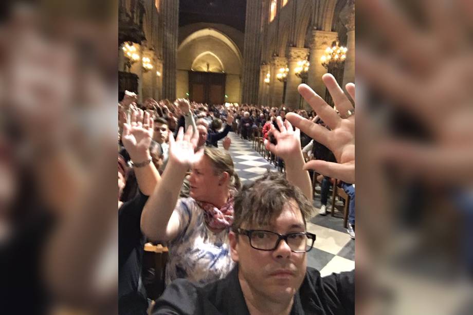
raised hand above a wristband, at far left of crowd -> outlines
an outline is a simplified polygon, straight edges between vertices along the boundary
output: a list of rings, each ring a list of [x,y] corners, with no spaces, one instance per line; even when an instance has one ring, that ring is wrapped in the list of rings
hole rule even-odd
[[[153,119],[150,113],[135,110],[129,123],[123,124],[121,141],[134,163],[150,158],[149,147],[153,137]]]

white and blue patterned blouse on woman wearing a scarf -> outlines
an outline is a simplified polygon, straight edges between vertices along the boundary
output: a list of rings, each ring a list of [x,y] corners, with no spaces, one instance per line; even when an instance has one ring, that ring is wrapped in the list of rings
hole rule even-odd
[[[189,198],[180,198],[174,209],[179,215],[179,232],[168,243],[166,284],[178,278],[196,284],[223,279],[234,267],[230,257],[229,228],[214,233],[205,223],[204,210]]]

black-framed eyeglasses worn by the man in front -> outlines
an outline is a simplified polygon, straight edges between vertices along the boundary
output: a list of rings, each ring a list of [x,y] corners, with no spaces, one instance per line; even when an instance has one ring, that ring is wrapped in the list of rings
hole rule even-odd
[[[248,236],[250,246],[258,250],[275,250],[281,239],[284,239],[290,250],[295,253],[304,253],[312,249],[315,242],[315,234],[309,232],[288,233],[281,235],[266,230],[244,230],[237,229],[238,234]]]

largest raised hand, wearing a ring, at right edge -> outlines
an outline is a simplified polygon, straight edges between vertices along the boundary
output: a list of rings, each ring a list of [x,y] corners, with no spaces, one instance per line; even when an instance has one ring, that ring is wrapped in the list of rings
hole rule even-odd
[[[302,97],[331,130],[294,113],[288,113],[286,118],[305,134],[328,147],[338,162],[312,160],[305,164],[304,169],[315,170],[325,176],[354,183],[355,115],[351,114],[351,111],[354,110],[353,105],[331,74],[327,73],[322,77],[322,80],[328,88],[340,115],[306,84],[299,85],[298,89]],[[355,100],[355,85],[349,83],[346,87],[351,98]]]

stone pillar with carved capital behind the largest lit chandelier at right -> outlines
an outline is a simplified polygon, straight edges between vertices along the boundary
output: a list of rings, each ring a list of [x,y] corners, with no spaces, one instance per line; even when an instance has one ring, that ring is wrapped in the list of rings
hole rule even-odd
[[[321,98],[325,97],[325,84],[322,82],[322,76],[327,73],[320,58],[325,53],[325,48],[332,45],[337,40],[337,32],[319,31],[312,32],[313,39],[311,44],[310,67],[307,73],[307,85],[310,86]]]

